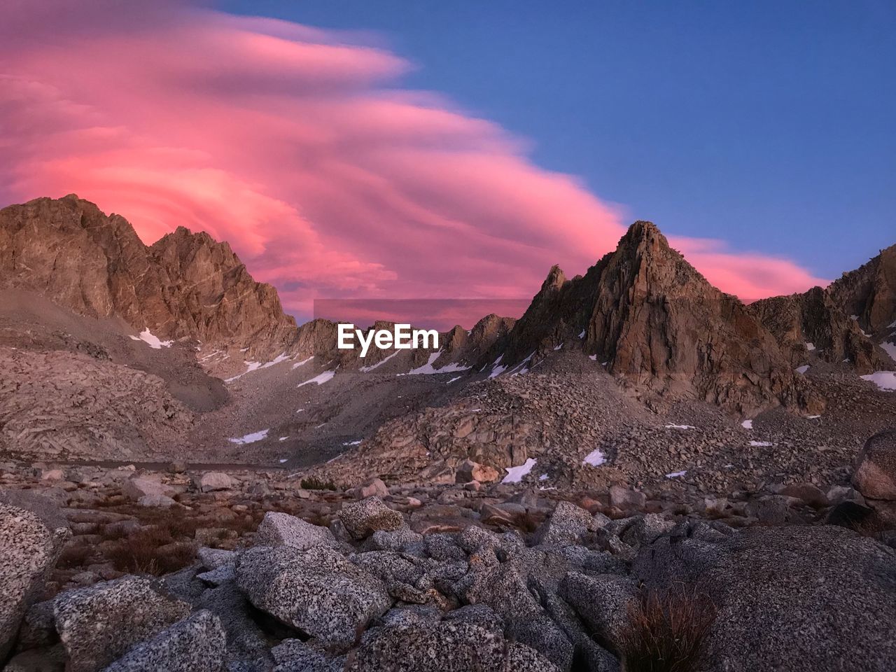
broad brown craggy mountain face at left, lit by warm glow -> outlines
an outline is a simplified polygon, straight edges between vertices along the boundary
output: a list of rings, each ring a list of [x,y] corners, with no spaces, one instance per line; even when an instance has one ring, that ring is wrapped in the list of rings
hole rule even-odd
[[[0,210],[0,282],[163,339],[240,346],[289,340],[296,327],[227,243],[179,227],[148,247],[123,217],[74,194]]]

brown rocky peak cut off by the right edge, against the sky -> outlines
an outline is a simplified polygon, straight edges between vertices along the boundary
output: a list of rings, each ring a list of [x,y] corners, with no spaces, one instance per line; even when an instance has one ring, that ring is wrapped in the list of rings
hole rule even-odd
[[[881,250],[855,271],[843,273],[829,290],[837,305],[847,315],[856,315],[866,332],[888,329],[896,320],[896,245]]]

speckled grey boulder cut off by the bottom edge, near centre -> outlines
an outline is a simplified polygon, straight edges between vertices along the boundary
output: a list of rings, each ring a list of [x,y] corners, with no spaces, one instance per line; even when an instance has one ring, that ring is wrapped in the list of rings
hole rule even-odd
[[[457,621],[390,626],[368,633],[347,672],[558,672],[499,633]]]

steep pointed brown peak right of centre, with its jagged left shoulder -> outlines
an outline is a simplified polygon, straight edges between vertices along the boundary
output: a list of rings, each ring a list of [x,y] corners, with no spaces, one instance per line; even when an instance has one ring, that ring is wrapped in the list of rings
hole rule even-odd
[[[583,277],[551,269],[506,340],[504,363],[576,339],[642,390],[744,415],[823,405],[746,306],[712,287],[650,222],[635,222]]]

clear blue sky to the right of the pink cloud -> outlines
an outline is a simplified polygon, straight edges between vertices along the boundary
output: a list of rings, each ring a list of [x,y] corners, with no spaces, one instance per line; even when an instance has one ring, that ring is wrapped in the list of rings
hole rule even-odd
[[[835,278],[896,242],[896,4],[228,0],[371,30],[629,219]]]

